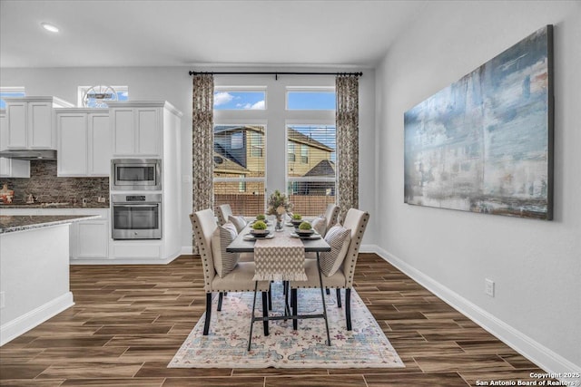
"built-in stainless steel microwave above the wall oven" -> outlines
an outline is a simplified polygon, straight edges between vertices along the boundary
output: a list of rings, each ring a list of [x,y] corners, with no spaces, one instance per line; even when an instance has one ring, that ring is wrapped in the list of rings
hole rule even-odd
[[[111,189],[161,190],[162,160],[159,159],[111,160]]]

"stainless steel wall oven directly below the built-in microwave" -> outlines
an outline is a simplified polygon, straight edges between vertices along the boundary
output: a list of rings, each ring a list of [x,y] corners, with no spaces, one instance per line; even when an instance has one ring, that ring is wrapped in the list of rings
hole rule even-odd
[[[162,194],[113,194],[113,239],[161,239]]]

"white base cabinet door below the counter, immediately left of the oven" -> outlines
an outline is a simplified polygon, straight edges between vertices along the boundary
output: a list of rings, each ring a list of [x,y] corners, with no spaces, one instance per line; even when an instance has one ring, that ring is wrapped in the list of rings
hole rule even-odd
[[[107,258],[109,253],[109,222],[85,220],[77,224],[77,258]]]

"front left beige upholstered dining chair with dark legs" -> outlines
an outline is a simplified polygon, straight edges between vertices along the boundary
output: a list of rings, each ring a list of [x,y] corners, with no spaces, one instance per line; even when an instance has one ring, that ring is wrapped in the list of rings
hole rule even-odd
[[[221,277],[216,273],[212,252],[212,235],[218,225],[214,218],[212,209],[203,209],[190,215],[192,220],[193,235],[202,258],[203,284],[206,291],[206,318],[203,325],[203,335],[210,331],[210,318],[212,316],[212,293],[219,292],[220,300],[218,311],[222,309],[222,294],[227,292],[254,292],[255,282],[254,262],[239,261],[230,273]],[[262,314],[268,315],[268,292],[269,281],[259,281],[258,290],[262,293]],[[268,321],[263,322],[264,335],[269,334]]]

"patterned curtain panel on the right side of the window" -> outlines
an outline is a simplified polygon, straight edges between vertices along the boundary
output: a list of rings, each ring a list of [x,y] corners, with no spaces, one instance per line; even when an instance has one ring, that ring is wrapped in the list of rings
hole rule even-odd
[[[350,208],[359,208],[359,78],[338,75],[337,107],[337,205],[340,222]]]

